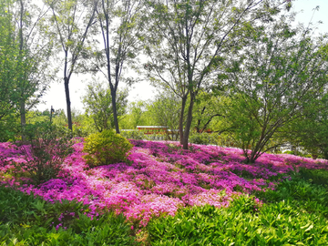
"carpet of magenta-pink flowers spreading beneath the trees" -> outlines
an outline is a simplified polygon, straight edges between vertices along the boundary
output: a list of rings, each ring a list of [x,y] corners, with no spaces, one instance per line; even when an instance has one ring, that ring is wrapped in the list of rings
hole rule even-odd
[[[174,215],[181,207],[226,207],[242,193],[274,189],[280,179],[289,178],[289,171],[299,167],[328,169],[323,159],[263,154],[249,165],[242,162],[241,149],[192,145],[191,150],[182,150],[175,142],[131,142],[135,147],[128,163],[88,169],[82,158],[83,139],[77,139],[75,152],[67,157],[57,179],[37,187],[24,184],[27,179],[8,175],[15,173],[13,162],[26,163],[26,167],[28,162],[15,145],[0,143],[0,181],[26,193],[33,191],[50,202],[83,201],[90,206],[90,216],[115,210],[146,226],[151,217]]]

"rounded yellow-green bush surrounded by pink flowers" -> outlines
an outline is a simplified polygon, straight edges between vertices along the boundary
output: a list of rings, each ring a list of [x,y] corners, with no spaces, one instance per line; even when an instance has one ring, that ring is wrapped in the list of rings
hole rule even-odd
[[[132,147],[127,138],[112,130],[104,130],[85,138],[83,150],[87,155],[83,158],[87,159],[90,167],[126,161],[127,153]]]

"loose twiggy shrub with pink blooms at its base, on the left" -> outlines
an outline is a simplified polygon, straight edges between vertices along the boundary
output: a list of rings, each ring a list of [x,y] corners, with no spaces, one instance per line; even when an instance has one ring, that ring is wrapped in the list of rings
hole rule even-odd
[[[3,161],[12,167],[15,175],[25,176],[31,182],[40,184],[56,178],[64,159],[73,152],[73,144],[61,129],[43,126],[38,128],[33,137],[28,138],[28,144],[12,145],[16,156],[12,155]]]

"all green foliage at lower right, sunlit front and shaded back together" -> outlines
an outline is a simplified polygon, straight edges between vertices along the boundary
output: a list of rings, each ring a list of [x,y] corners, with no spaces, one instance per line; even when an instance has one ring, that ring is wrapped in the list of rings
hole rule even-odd
[[[275,190],[235,197],[229,208],[185,208],[150,220],[151,245],[325,245],[328,188],[325,169],[300,169]]]

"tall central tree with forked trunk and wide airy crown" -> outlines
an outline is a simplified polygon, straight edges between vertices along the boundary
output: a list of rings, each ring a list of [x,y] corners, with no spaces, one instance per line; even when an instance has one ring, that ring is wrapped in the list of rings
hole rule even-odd
[[[149,1],[145,34],[148,77],[181,97],[180,141],[188,149],[193,106],[202,87],[214,80],[223,56],[241,48],[251,23],[270,21],[284,1]],[[271,4],[272,3],[272,4]],[[189,105],[187,108],[187,99]],[[183,130],[183,117],[187,120]]]

